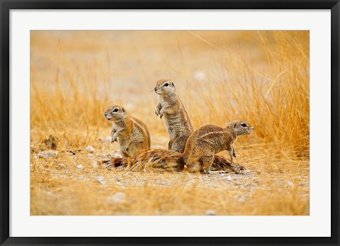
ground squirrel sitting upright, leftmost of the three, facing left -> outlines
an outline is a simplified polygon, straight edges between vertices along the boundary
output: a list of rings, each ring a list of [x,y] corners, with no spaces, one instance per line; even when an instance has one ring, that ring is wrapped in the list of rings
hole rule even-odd
[[[125,108],[118,105],[109,107],[104,115],[113,125],[111,142],[119,142],[123,157],[149,150],[150,135],[145,123],[130,116]]]

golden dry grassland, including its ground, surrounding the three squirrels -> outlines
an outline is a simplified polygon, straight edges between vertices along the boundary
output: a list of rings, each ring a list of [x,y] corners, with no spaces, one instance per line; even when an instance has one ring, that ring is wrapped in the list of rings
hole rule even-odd
[[[32,31],[30,59],[31,215],[309,215],[307,31]],[[248,172],[93,165],[118,151],[105,140],[111,104],[128,108],[152,145],[166,147],[154,114],[162,78],[174,79],[196,128],[234,119],[255,126],[235,145]],[[59,154],[39,158],[49,135]],[[117,192],[125,199],[115,201]]]

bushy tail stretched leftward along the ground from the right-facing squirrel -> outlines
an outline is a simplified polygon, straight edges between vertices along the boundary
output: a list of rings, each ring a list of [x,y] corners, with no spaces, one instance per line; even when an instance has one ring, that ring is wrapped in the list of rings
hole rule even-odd
[[[110,171],[145,171],[152,169],[159,171],[181,171],[184,167],[182,154],[171,150],[147,150],[138,155],[126,158],[113,158],[101,162]]]

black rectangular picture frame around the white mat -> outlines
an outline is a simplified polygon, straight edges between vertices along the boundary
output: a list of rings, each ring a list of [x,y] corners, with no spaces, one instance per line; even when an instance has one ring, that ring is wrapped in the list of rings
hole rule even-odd
[[[339,245],[339,0],[9,1],[1,9],[1,245]],[[331,9],[331,237],[9,237],[11,9]],[[320,225],[322,226],[322,225]],[[185,230],[185,228],[179,230]]]

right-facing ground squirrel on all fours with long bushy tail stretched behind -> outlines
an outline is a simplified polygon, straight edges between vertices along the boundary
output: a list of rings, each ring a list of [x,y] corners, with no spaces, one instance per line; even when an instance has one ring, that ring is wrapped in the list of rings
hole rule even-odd
[[[217,125],[203,125],[191,134],[186,142],[183,153],[171,150],[148,150],[140,155],[128,158],[114,158],[103,161],[106,169],[113,168],[138,171],[145,169],[166,169],[169,171],[181,171],[185,168],[189,172],[210,172],[221,169],[232,169],[239,172],[244,169],[233,162],[236,156],[234,141],[239,135],[250,134],[254,127],[245,121],[232,121],[226,128]],[[215,153],[227,150],[231,162],[225,157],[217,157]]]

